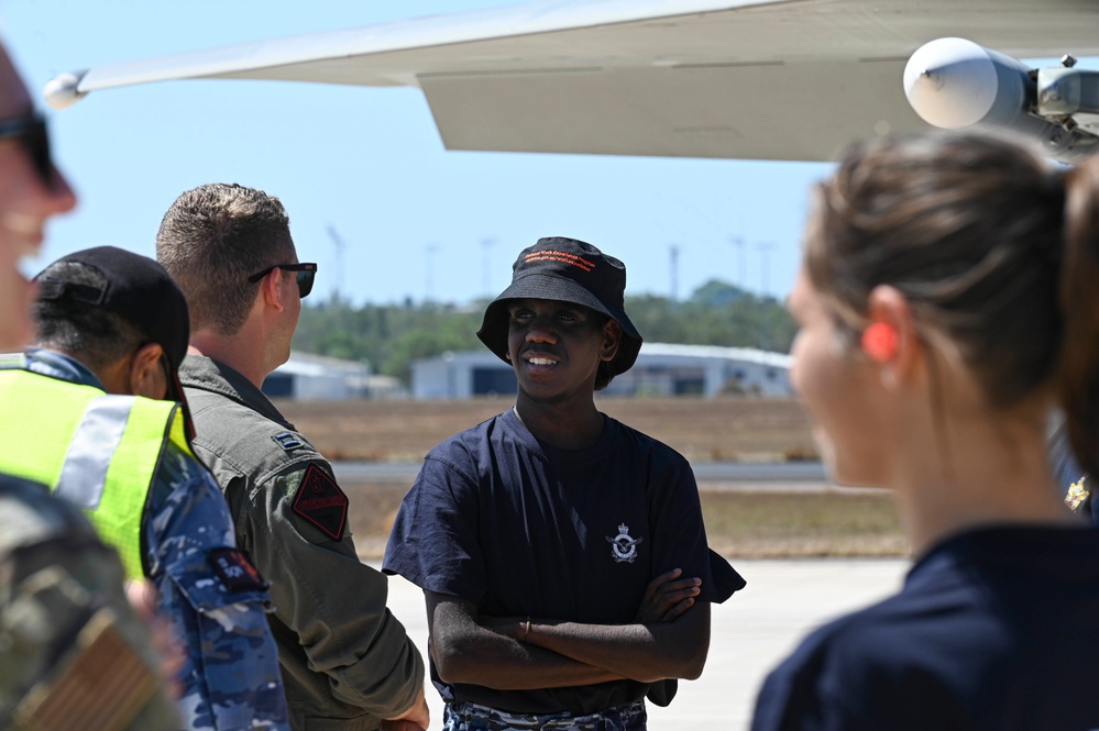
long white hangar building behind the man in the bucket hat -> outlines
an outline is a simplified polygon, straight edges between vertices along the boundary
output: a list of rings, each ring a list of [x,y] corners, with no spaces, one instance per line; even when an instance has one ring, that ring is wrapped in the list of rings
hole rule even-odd
[[[608,396],[705,396],[722,392],[788,397],[790,356],[757,348],[645,343],[637,363],[616,376]],[[413,362],[413,398],[512,396],[515,373],[488,351],[446,353]]]

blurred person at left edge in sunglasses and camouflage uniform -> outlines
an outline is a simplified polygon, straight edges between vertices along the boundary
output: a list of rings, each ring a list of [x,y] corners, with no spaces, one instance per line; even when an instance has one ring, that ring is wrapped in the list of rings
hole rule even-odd
[[[0,45],[0,351],[33,332],[34,287],[19,259],[36,255],[45,223],[75,204],[45,122]],[[179,728],[168,671],[123,576],[77,508],[0,473],[0,728]]]

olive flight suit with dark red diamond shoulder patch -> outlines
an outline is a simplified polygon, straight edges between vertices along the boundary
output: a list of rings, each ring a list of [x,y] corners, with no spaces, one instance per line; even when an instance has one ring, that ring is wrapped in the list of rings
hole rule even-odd
[[[290,723],[369,731],[408,710],[424,661],[385,606],[387,583],[359,561],[331,466],[244,376],[188,355],[179,368],[197,432],[240,546],[271,579]]]

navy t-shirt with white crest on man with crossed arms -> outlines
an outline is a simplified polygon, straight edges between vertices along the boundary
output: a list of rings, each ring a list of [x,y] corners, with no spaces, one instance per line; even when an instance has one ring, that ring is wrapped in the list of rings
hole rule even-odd
[[[679,567],[702,578],[701,600],[744,582],[706,545],[686,459],[604,417],[582,450],[539,442],[512,410],[432,450],[405,497],[383,571],[486,614],[629,623],[645,587]],[[716,578],[715,578],[716,576]],[[641,699],[631,680],[539,690],[447,686],[447,700],[512,712],[590,713]]]

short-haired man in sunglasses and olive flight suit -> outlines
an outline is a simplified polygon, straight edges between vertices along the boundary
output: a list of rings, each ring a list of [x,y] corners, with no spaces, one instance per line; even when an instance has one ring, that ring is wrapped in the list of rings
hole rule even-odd
[[[271,583],[270,622],[296,731],[426,729],[424,662],[359,561],[332,467],[261,391],[286,363],[317,265],[298,262],[277,198],[211,184],[164,214],[156,256],[191,314],[179,377],[195,452]]]

